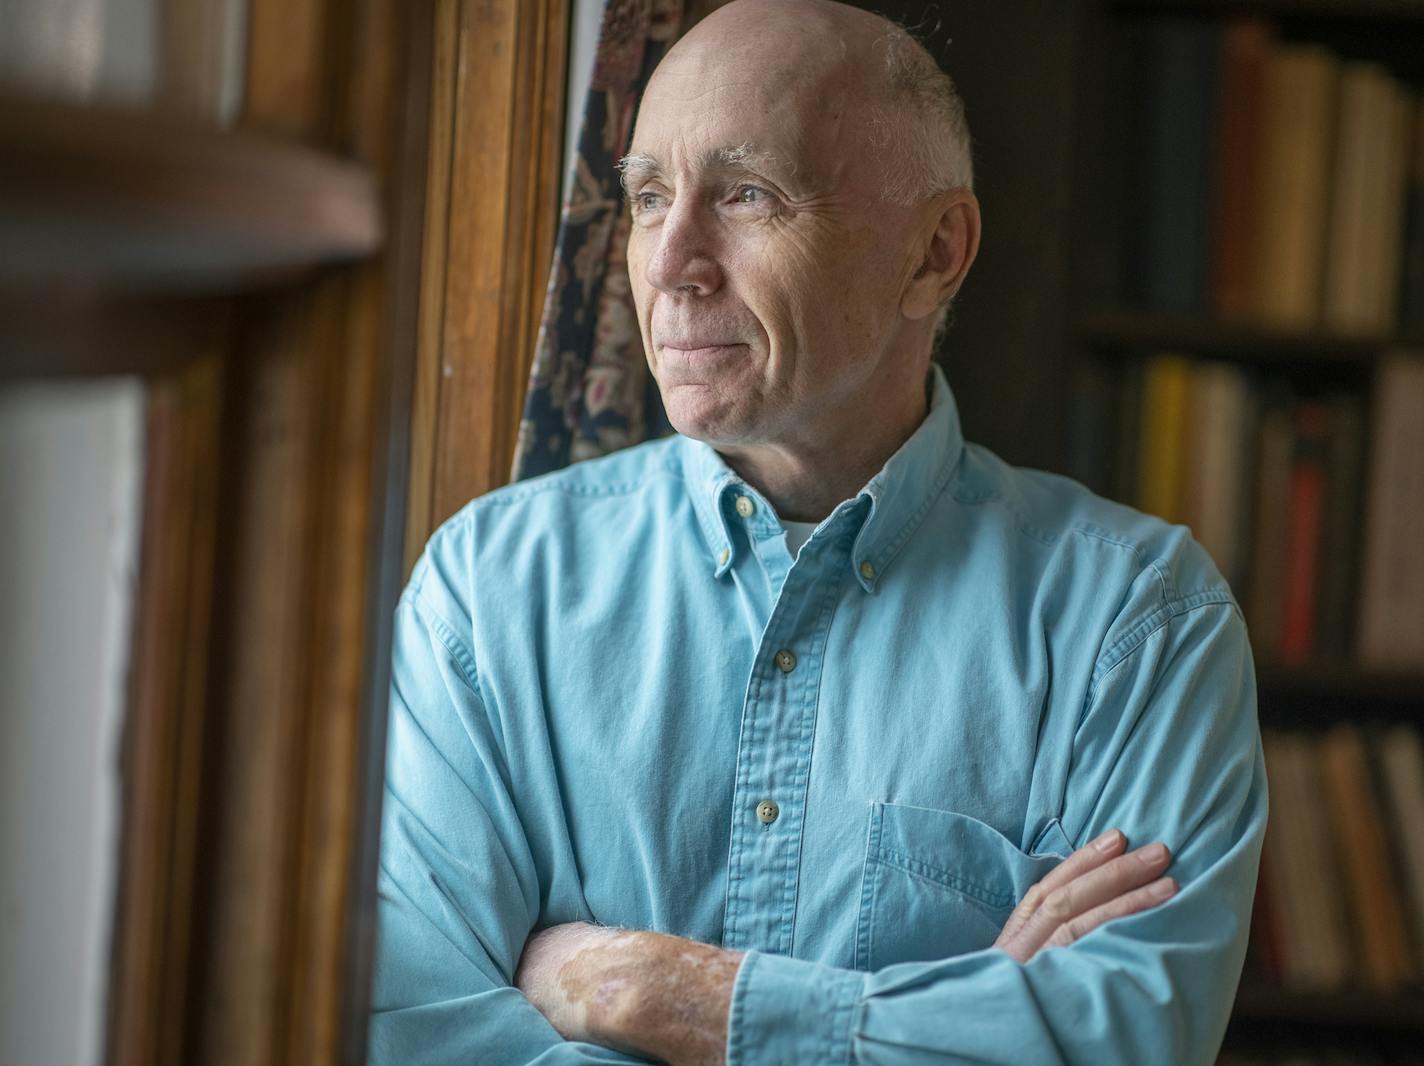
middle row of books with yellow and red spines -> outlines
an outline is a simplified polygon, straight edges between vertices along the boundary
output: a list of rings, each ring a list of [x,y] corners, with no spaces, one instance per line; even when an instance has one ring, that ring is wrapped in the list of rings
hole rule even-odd
[[[1424,665],[1424,356],[1384,359],[1373,399],[1180,354],[1078,374],[1069,473],[1189,525],[1257,659]]]

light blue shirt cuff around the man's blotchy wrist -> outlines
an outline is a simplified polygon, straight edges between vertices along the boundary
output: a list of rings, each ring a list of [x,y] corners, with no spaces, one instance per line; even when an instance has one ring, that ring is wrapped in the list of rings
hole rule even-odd
[[[850,1062],[850,1026],[866,975],[749,951],[732,985],[728,1066]]]

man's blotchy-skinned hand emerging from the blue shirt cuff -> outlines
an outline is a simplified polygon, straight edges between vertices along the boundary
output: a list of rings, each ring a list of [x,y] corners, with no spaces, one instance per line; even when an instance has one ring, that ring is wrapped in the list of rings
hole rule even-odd
[[[524,945],[514,985],[567,1040],[675,1066],[726,1059],[726,1019],[742,952],[584,922]]]

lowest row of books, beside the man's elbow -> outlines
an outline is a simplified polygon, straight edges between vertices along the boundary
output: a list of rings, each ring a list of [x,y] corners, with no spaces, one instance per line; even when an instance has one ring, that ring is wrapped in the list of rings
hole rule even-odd
[[[1411,726],[1267,730],[1252,965],[1293,989],[1424,973],[1424,743]]]

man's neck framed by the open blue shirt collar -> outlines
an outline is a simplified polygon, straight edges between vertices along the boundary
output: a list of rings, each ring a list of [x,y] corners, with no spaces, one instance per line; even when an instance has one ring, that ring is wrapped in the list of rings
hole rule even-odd
[[[930,410],[928,393],[917,390],[890,417],[862,420],[842,433],[820,433],[813,441],[719,447],[718,453],[768,498],[778,517],[819,522],[864,488],[920,428]]]

